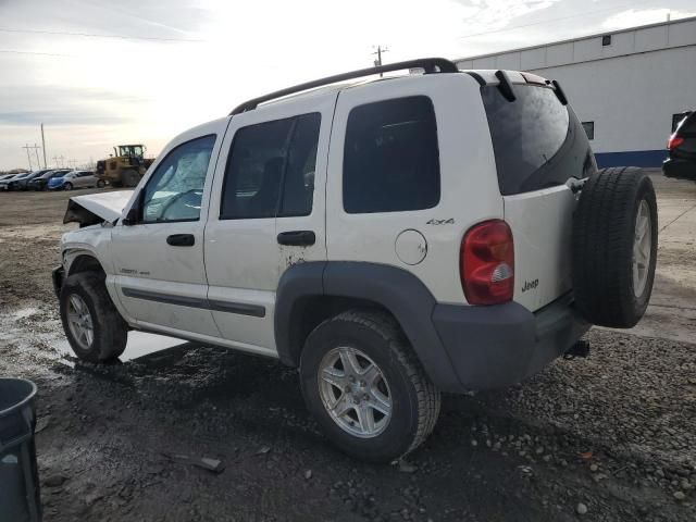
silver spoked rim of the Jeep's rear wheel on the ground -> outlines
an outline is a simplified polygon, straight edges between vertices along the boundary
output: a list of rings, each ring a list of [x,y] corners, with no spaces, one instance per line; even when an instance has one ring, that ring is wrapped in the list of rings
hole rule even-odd
[[[391,419],[391,393],[377,364],[357,348],[330,350],[319,365],[319,393],[341,430],[360,438],[384,432]]]

